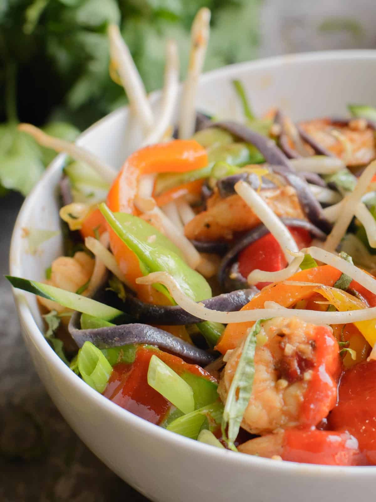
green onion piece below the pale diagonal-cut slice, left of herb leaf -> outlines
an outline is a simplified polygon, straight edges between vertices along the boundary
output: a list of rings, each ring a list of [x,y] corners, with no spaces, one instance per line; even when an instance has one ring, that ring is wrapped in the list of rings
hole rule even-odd
[[[211,405],[204,406],[187,415],[177,418],[166,429],[180,436],[191,439],[197,439],[201,427],[206,419],[209,421],[210,429],[215,429],[221,423],[223,413],[223,404],[219,401]]]

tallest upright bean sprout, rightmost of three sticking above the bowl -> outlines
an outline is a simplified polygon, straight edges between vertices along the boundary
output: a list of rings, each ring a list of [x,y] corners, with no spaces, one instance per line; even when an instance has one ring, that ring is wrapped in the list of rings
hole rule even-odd
[[[203,70],[210,34],[210,10],[206,7],[196,14],[191,28],[191,53],[184,82],[179,116],[179,138],[190,138],[195,132],[196,92]]]

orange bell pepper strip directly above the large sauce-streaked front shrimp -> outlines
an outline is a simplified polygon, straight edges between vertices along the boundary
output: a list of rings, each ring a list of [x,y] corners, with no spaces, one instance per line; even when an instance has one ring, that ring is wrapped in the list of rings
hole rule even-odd
[[[321,267],[301,270],[290,277],[290,280],[333,286],[340,276],[341,272],[339,270],[330,265],[322,265]],[[266,301],[277,302],[283,307],[289,308],[316,291],[317,286],[313,285],[292,286],[290,284],[275,283],[260,291],[241,310],[263,309]],[[225,354],[229,349],[235,348],[245,336],[247,329],[253,326],[253,324],[254,322],[228,324],[215,349]]]

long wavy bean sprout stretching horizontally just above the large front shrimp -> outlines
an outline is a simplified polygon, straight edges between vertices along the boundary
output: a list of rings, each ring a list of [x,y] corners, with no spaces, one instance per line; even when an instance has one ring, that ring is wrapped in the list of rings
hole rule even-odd
[[[347,263],[347,262],[346,262]],[[376,281],[375,281],[376,282]],[[254,310],[241,310],[239,312],[220,312],[196,303],[180,289],[175,279],[166,272],[153,272],[145,277],[136,279],[137,284],[163,284],[169,291],[177,305],[186,312],[200,317],[205,321],[238,323],[269,319],[273,317],[298,317],[314,324],[344,324],[358,322],[376,317],[376,307],[368,309],[351,310],[348,312],[321,312],[317,310],[288,309],[282,306]]]

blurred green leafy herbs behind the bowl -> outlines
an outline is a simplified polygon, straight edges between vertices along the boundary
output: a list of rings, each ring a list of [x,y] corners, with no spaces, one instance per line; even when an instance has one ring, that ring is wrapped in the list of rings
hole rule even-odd
[[[151,91],[162,83],[167,38],[178,44],[184,76],[190,26],[204,6],[212,10],[205,69],[255,57],[260,4],[261,0],[1,0],[0,193],[16,189],[26,195],[52,158],[51,152],[17,131],[18,121],[47,124],[50,133],[72,140],[79,130],[127,102],[108,72],[109,23],[120,26]]]

